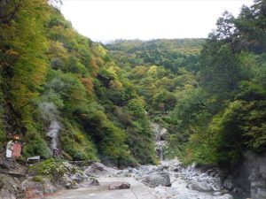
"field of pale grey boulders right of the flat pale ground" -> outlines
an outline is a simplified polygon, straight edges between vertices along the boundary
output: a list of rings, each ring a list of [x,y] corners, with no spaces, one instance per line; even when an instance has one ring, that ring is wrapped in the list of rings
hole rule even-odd
[[[223,191],[219,171],[215,168],[202,172],[195,166],[184,167],[175,160],[163,161],[158,166],[128,168],[122,175],[132,175],[144,182],[157,198],[232,199]]]

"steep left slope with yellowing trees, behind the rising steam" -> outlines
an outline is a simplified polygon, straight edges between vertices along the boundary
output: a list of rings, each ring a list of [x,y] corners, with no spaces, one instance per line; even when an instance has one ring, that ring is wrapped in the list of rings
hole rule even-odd
[[[23,157],[156,163],[144,101],[103,46],[46,0],[1,1],[0,20],[1,153],[19,135]]]

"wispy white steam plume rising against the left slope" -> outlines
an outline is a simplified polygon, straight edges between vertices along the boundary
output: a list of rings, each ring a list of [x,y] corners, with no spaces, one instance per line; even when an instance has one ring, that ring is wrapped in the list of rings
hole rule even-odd
[[[50,126],[46,135],[51,137],[51,150],[57,149],[59,142],[59,130],[61,125],[58,120],[58,110],[54,103],[40,103],[39,105],[42,111],[42,118],[45,122],[49,123]]]

